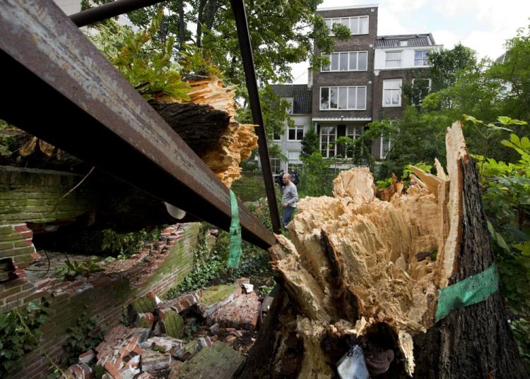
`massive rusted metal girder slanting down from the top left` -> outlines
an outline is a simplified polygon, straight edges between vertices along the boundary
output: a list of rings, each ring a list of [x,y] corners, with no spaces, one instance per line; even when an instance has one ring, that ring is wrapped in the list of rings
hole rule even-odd
[[[1,119],[228,229],[228,189],[52,0],[0,2],[0,59]],[[275,243],[242,203],[240,219],[246,241]]]

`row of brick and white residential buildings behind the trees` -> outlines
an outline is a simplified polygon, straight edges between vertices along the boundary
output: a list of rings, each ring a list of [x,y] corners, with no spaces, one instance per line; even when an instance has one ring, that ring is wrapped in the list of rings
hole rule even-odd
[[[315,45],[315,54],[328,56],[330,64],[310,71],[306,86],[312,96],[311,109],[308,109],[310,127],[319,136],[322,155],[338,158],[336,168],[339,169],[351,167],[348,160],[351,157],[336,140],[344,136],[358,138],[373,120],[401,116],[404,85],[410,83],[430,89],[428,54],[440,48],[431,34],[377,36],[377,10],[377,5],[363,5],[317,11],[330,32],[334,23],[351,30],[348,40],[336,40],[331,54],[324,54]],[[289,88],[293,85],[274,86],[276,93],[284,98],[288,98],[283,94],[289,93]],[[300,85],[297,88],[301,90]],[[281,169],[300,164],[295,157],[300,155],[301,145],[285,145],[288,140],[285,135],[278,140],[288,157],[288,162],[280,163]],[[391,141],[379,138],[372,146],[372,155],[384,159],[390,146]],[[296,148],[300,150],[297,152]]]

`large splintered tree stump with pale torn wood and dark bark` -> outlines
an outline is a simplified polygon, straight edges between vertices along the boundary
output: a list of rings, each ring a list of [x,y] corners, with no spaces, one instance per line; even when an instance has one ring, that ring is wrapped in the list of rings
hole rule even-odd
[[[338,378],[354,344],[377,378],[528,378],[499,291],[435,319],[440,289],[493,264],[459,123],[446,146],[447,175],[439,162],[436,176],[413,167],[415,183],[388,201],[363,168],[339,174],[334,198],[300,201],[292,243],[277,237],[289,254],[271,249],[285,289],[273,338],[260,334],[237,378]]]

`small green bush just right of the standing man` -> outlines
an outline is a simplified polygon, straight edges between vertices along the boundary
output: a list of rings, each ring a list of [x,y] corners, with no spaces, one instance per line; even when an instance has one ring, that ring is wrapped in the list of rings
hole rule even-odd
[[[331,195],[333,190],[333,179],[336,178],[337,172],[331,169],[334,164],[333,159],[324,159],[320,152],[313,152],[308,157],[300,157],[304,163],[300,173],[300,183],[298,184],[298,195],[305,196],[322,196]]]

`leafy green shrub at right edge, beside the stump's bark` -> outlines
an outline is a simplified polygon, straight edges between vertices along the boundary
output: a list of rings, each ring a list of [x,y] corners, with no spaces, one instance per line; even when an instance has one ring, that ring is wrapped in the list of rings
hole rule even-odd
[[[521,121],[499,117],[502,125]],[[530,367],[530,140],[510,135],[502,145],[515,150],[517,162],[502,162],[481,155],[478,162],[483,205],[497,258],[502,294],[512,313],[510,326],[521,356]]]

